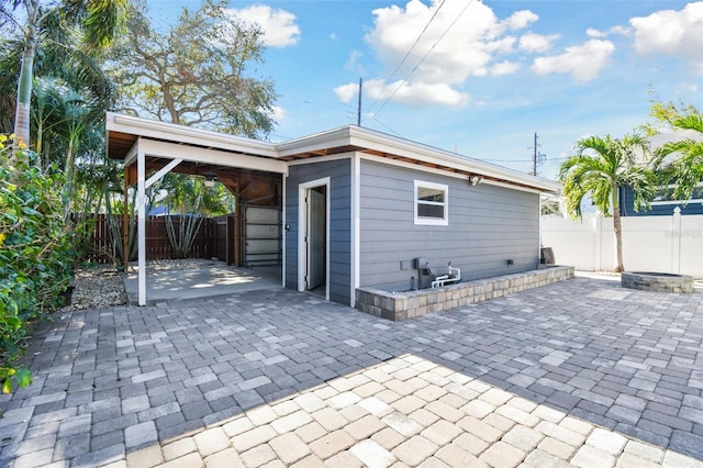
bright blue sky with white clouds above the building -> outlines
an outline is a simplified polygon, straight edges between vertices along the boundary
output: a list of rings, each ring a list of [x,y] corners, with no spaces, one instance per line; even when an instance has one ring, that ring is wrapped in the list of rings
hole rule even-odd
[[[164,22],[200,1],[148,4]],[[536,132],[538,174],[554,178],[579,137],[620,137],[649,121],[652,98],[703,107],[703,1],[230,7],[265,31],[265,63],[253,73],[279,94],[272,141],[355,124],[362,78],[362,126],[524,172]]]

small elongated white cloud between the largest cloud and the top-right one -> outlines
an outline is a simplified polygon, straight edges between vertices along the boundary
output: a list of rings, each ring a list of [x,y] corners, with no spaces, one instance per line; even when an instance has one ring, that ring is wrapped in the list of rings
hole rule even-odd
[[[537,75],[571,74],[578,81],[589,81],[598,77],[615,52],[610,41],[591,40],[583,45],[568,47],[561,55],[536,58],[532,70]]]

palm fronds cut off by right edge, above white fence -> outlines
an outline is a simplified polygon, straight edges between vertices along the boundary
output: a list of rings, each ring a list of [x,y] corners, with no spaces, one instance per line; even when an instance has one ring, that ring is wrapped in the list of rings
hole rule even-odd
[[[688,113],[677,114],[671,119],[670,124],[673,129],[693,131],[699,134],[698,138],[690,137],[680,142],[665,143],[655,152],[659,161],[670,155],[678,155],[666,172],[677,183],[673,199],[682,200],[685,204],[695,187],[703,180],[703,115],[695,109],[689,109]]]

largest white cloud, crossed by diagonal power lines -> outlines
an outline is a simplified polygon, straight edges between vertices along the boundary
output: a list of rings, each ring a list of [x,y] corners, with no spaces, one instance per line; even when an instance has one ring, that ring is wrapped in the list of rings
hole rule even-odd
[[[366,42],[388,74],[412,47],[402,67],[387,78],[395,81],[409,77],[392,99],[443,105],[468,101],[458,87],[470,77],[515,73],[520,67],[505,56],[516,52],[516,38],[507,32],[538,19],[525,10],[501,21],[490,7],[466,0],[432,0],[429,4],[409,0],[404,7],[379,8],[372,13],[375,24]]]

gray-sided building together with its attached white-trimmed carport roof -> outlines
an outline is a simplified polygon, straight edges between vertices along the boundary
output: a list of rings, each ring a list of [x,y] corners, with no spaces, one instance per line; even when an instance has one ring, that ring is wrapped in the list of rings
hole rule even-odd
[[[535,269],[540,194],[560,188],[354,125],[283,143],[111,113],[107,127],[137,193],[180,170],[216,176],[243,207],[275,200],[283,286],[349,305],[357,288],[426,288],[449,263],[462,280]],[[247,200],[247,178],[265,176],[270,194]]]

